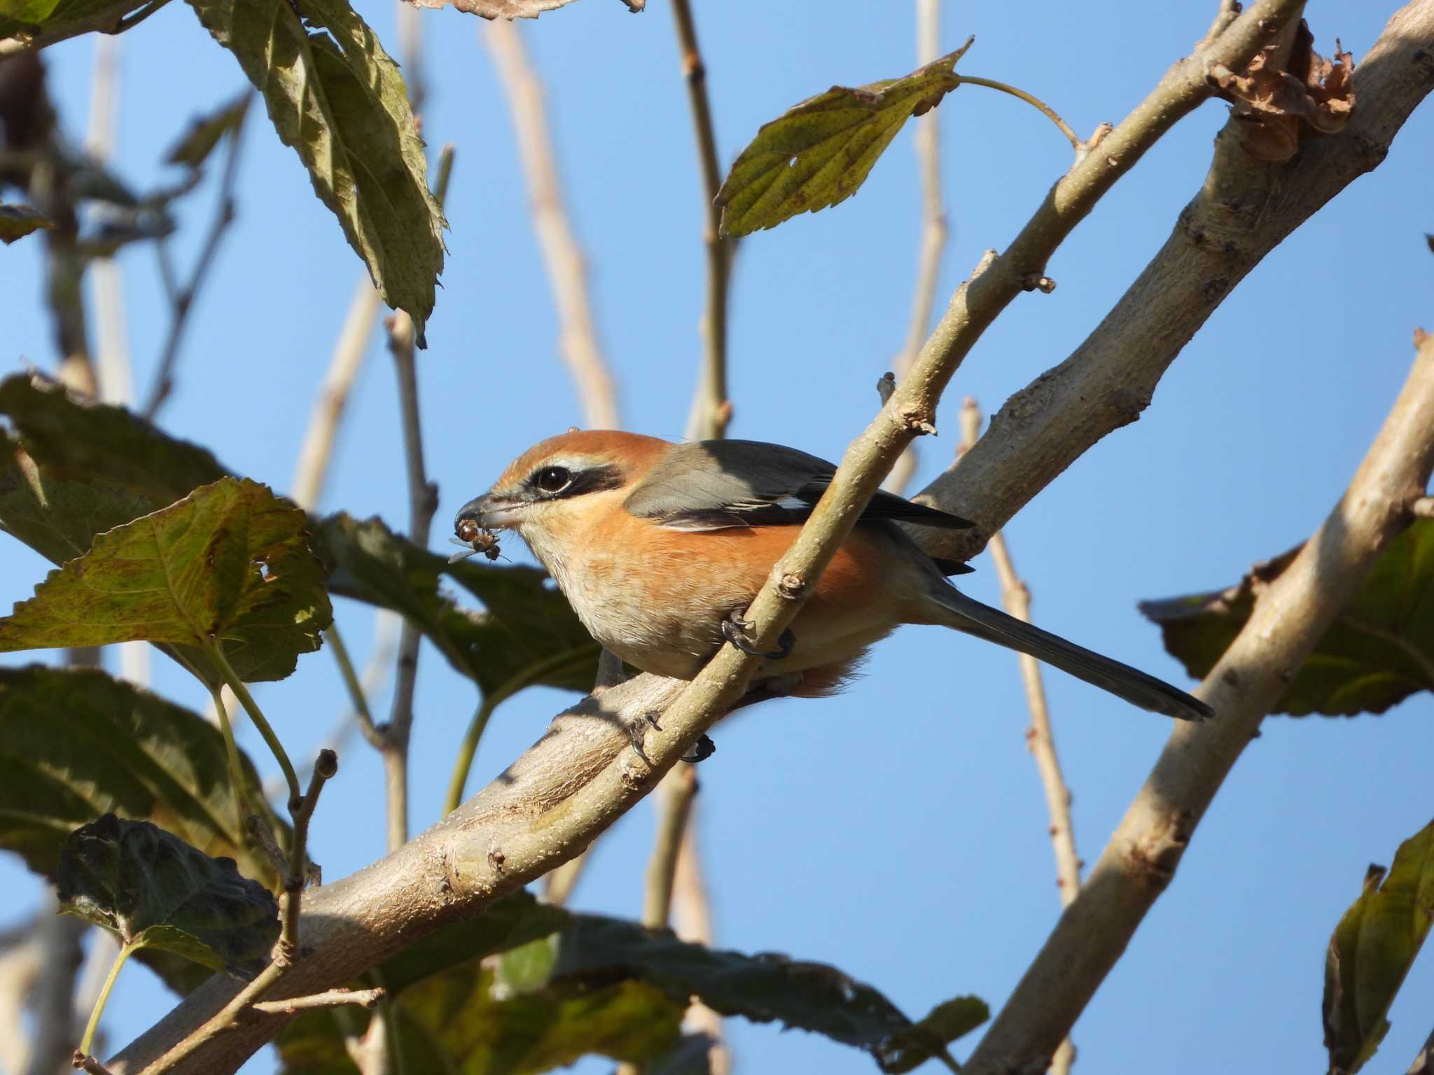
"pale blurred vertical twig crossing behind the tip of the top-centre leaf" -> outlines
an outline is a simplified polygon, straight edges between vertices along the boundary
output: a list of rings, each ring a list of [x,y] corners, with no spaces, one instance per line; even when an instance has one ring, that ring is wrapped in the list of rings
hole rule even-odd
[[[939,49],[941,3],[916,0],[918,66],[934,62]],[[931,109],[916,119],[912,145],[916,149],[916,171],[921,175],[921,249],[916,254],[916,288],[911,300],[906,344],[893,363],[892,373],[898,380],[906,376],[931,328],[931,311],[936,304],[936,284],[941,280],[941,258],[946,249],[946,206],[941,196],[941,109]],[[892,493],[905,490],[916,473],[916,463],[918,450],[913,441],[901,453],[883,487]]]

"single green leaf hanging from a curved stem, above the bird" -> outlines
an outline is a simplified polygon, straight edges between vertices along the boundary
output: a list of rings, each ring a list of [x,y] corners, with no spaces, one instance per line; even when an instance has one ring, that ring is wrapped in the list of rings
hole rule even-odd
[[[717,192],[723,234],[774,228],[856,194],[906,120],[961,85],[955,66],[971,40],[902,79],[833,86],[764,125]]]

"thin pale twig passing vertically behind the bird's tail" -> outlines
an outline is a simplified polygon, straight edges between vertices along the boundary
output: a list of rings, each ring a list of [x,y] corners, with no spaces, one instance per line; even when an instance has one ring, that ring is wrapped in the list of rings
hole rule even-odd
[[[981,408],[969,396],[961,404],[961,452],[965,453],[981,434]],[[1031,591],[1015,573],[1011,553],[1005,546],[1005,535],[997,532],[987,543],[991,565],[1001,583],[1001,603],[1020,621],[1031,622]],[[1061,761],[1055,754],[1055,738],[1051,734],[1051,714],[1045,704],[1045,684],[1041,679],[1041,662],[1028,654],[1018,655],[1021,682],[1025,685],[1025,704],[1031,711],[1031,725],[1025,730],[1025,745],[1035,758],[1045,790],[1045,810],[1050,814],[1051,847],[1055,851],[1055,886],[1061,907],[1068,907],[1080,889],[1080,857],[1076,854],[1076,827],[1071,823],[1071,793],[1061,774]],[[1076,1045],[1070,1035],[1051,1056],[1051,1074],[1065,1075],[1076,1062]]]

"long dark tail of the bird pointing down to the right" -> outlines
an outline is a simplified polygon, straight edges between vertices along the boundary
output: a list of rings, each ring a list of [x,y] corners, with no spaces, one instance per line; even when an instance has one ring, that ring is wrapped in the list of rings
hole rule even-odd
[[[932,609],[932,618],[938,624],[1030,654],[1141,710],[1183,721],[1203,721],[1215,715],[1215,710],[1177,687],[982,605],[954,586],[932,586],[931,599],[939,606],[939,611]]]

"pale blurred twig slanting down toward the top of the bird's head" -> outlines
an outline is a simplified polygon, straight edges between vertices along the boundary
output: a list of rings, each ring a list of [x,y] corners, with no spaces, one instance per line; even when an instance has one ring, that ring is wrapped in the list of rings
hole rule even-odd
[[[513,116],[513,132],[518,135],[518,150],[528,179],[533,231],[538,232],[554,304],[558,307],[558,350],[578,388],[588,427],[617,429],[617,393],[592,320],[587,259],[574,235],[558,183],[542,83],[528,62],[516,23],[498,19],[479,33],[493,56]]]

